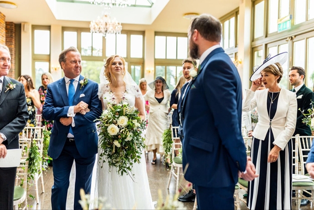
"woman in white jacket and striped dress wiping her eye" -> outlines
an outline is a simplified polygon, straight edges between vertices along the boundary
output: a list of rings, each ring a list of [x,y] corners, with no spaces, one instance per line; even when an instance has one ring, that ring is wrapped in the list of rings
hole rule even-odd
[[[281,88],[282,64],[287,53],[266,59],[251,76],[243,111],[257,107],[251,158],[259,177],[249,182],[247,206],[251,210],[291,210],[292,144],[297,120],[295,93]],[[256,91],[262,84],[268,89]],[[256,91],[256,92],[255,92]]]

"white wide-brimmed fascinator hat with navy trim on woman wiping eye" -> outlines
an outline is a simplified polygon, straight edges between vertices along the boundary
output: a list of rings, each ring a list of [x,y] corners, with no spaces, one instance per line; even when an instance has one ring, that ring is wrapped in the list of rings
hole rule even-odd
[[[259,77],[261,77],[261,71],[269,65],[273,65],[275,63],[280,63],[280,65],[283,65],[284,63],[286,63],[287,57],[288,57],[288,52],[282,52],[282,53],[279,53],[278,55],[275,55],[273,57],[271,57],[271,54],[269,54],[266,57],[266,59],[263,61],[262,65],[257,66],[257,67],[254,66],[255,70],[253,68],[253,74],[252,74],[250,80],[254,81],[254,80],[258,79]],[[277,65],[274,65],[274,66],[278,69]]]

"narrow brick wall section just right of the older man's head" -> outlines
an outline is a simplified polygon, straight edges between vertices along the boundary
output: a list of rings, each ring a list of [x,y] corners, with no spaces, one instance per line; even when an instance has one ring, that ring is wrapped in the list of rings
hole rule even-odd
[[[11,69],[8,77],[15,77],[15,24],[5,22],[5,45],[9,48],[11,54]]]

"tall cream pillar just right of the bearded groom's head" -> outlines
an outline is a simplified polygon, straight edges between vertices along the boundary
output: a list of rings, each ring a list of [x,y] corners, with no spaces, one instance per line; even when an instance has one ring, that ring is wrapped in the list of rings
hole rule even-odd
[[[239,0],[239,37],[238,37],[238,65],[239,74],[242,80],[242,88],[247,89],[250,85],[251,68],[251,0]]]

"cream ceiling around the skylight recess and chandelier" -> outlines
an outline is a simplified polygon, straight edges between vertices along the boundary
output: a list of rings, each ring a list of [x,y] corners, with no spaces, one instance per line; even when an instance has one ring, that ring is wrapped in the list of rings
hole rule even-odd
[[[99,5],[56,0],[10,0],[15,9],[0,7],[5,21],[33,25],[62,25],[67,27],[89,27],[91,20],[102,14]],[[125,30],[164,32],[186,32],[190,20],[184,13],[210,13],[221,17],[239,6],[240,0],[156,0],[150,7],[114,7],[111,16],[123,24]],[[49,5],[48,5],[49,4]]]

